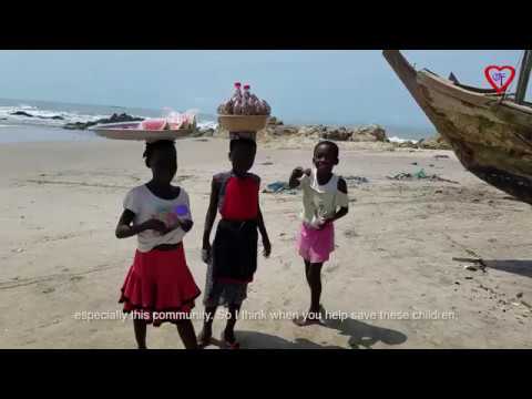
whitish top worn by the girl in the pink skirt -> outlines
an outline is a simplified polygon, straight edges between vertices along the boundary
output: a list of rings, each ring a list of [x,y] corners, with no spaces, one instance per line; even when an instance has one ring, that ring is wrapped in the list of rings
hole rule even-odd
[[[338,190],[339,177],[335,174],[320,185],[317,171],[313,167],[310,176],[304,175],[299,180],[303,190],[301,219],[309,226],[316,227],[320,221],[332,217],[338,207],[349,207],[349,197]]]

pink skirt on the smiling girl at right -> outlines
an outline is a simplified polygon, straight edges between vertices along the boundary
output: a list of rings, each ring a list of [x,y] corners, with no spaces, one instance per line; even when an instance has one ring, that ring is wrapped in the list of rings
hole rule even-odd
[[[315,229],[304,223],[297,238],[297,250],[310,263],[329,260],[330,253],[335,250],[334,224],[329,223],[323,229]]]

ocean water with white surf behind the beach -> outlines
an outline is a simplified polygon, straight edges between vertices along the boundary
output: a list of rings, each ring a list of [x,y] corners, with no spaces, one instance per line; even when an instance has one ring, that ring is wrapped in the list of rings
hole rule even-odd
[[[141,117],[160,117],[167,110],[134,109],[119,105],[68,104],[51,101],[0,99],[0,143],[41,142],[41,141],[84,141],[102,140],[90,131],[71,131],[62,126],[73,122],[91,122],[109,117],[113,113],[126,113]],[[173,110],[184,112],[186,110]],[[24,112],[28,115],[13,115]],[[53,119],[55,117],[55,119]],[[198,113],[198,126],[203,129],[217,125],[216,117]],[[285,121],[289,123],[289,121]],[[418,141],[433,135],[436,131],[410,126],[387,126],[390,141]]]

